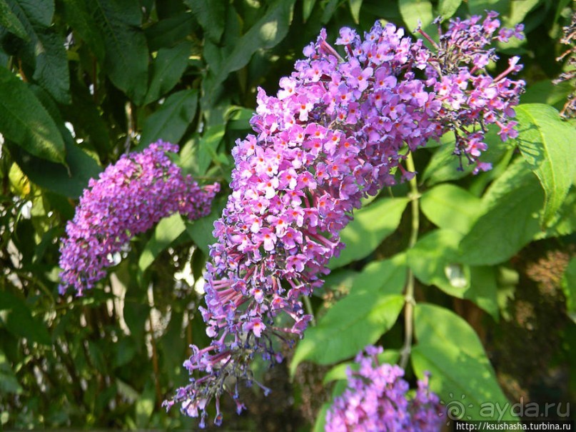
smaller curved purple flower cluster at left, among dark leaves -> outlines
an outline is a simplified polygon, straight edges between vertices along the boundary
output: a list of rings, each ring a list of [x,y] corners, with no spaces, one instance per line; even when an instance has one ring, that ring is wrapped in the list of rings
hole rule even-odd
[[[178,146],[158,141],[141,153],[121,156],[89,181],[62,238],[61,293],[74,286],[81,296],[94,287],[130,238],[161,218],[178,211],[196,219],[210,212],[220,185],[201,187],[191,176],[183,177],[167,151]]]

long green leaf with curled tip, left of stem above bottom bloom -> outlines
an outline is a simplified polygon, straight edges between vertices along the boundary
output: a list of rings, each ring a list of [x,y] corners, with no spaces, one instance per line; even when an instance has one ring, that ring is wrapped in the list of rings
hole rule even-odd
[[[309,327],[290,363],[293,375],[304,360],[330,364],[355,356],[393,326],[404,306],[405,267],[396,257],[370,263],[350,293]]]

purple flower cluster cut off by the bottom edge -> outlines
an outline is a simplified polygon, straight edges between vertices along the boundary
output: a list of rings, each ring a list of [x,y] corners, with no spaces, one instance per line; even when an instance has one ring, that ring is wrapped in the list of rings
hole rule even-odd
[[[335,398],[326,413],[326,432],[438,432],[442,407],[428,388],[418,381],[413,398],[400,366],[380,364],[382,347],[367,346],[355,358],[358,371],[348,368],[348,387]]]

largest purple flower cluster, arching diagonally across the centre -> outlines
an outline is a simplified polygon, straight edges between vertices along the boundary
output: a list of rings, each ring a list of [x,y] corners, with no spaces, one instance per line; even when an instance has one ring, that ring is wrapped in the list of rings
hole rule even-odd
[[[363,40],[344,28],[336,44],[345,58],[322,31],[276,96],[258,91],[256,134],[233,150],[233,193],[213,232],[201,310],[213,341],[191,347],[184,366],[200,376],[168,408],[180,403],[203,425],[216,398],[218,424],[228,391],[241,411],[237,383],[253,382],[251,359],[281,361],[275,339],[302,336],[310,316],[300,296],[322,285],[360,199],[414,175],[402,166],[409,151],[454,131],[455,153],[476,163],[487,124],[514,136],[508,118],[523,83],[506,76],[517,59],[496,78],[484,69],[495,59],[488,44],[520,30],[495,34],[499,26],[495,14],[453,21],[434,49],[393,24],[376,23]]]

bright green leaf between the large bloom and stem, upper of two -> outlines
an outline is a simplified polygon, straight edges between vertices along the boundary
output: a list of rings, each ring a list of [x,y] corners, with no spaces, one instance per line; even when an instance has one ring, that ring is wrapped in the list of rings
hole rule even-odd
[[[345,266],[365,258],[390,236],[400,223],[408,198],[384,198],[374,201],[354,213],[354,220],[340,233],[345,248],[338,258],[333,258],[329,268]]]

